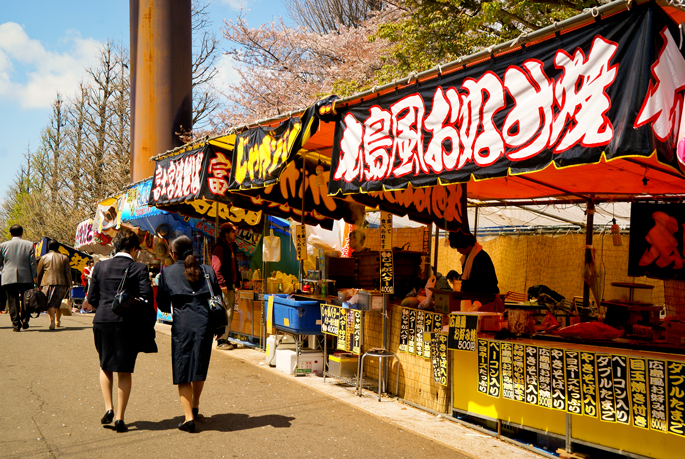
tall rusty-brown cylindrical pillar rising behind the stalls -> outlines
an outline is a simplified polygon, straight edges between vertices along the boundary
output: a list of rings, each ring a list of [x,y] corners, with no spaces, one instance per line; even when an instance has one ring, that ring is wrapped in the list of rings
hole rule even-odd
[[[151,177],[149,158],[192,129],[191,0],[129,0],[131,182]]]

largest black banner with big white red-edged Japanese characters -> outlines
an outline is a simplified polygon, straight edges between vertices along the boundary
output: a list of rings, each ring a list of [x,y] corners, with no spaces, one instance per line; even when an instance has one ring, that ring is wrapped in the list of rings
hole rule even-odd
[[[682,173],[678,37],[649,2],[340,108],[329,194],[503,177],[552,162],[596,163],[603,154],[656,151]]]

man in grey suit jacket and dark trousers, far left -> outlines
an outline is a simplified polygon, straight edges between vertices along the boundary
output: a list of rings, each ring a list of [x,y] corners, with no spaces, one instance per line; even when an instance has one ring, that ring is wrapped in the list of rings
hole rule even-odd
[[[12,327],[18,332],[29,328],[29,314],[22,305],[24,292],[32,289],[37,281],[36,254],[33,242],[21,238],[24,234],[21,225],[13,225],[10,234],[12,239],[0,244],[0,267]]]

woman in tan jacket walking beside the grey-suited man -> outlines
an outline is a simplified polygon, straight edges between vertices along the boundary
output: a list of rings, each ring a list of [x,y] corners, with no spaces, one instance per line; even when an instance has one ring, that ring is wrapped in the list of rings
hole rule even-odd
[[[62,326],[62,299],[67,295],[71,285],[71,265],[69,257],[59,253],[59,243],[50,241],[48,253],[40,257],[38,262],[38,285],[48,297],[48,315],[50,316],[50,330]]]

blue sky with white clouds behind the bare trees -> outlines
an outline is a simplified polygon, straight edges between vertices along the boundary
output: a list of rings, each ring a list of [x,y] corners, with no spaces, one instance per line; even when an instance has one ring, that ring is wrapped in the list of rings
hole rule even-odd
[[[278,17],[289,22],[283,0],[203,0],[212,28],[242,9],[252,27]],[[129,2],[109,0],[5,1],[0,8],[0,201],[5,199],[28,149],[35,151],[57,92],[75,94],[85,69],[95,66],[106,40],[129,42]],[[221,39],[222,49],[228,46]],[[220,59],[220,79],[236,78]]]

